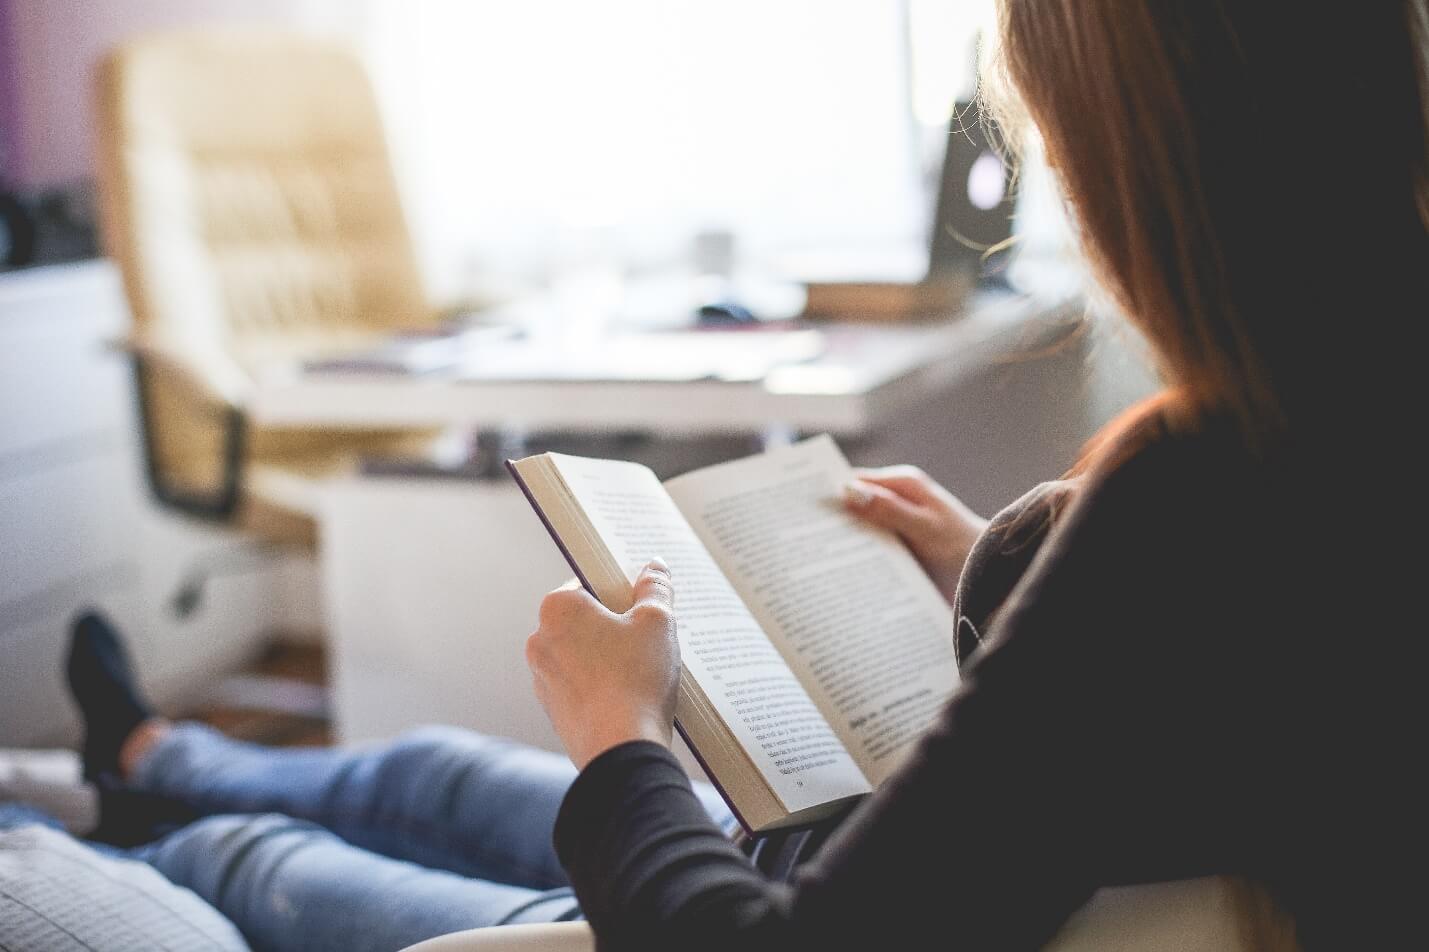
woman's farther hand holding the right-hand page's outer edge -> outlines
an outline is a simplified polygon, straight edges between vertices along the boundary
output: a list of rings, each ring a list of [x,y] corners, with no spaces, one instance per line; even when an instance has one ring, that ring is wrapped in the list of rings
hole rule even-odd
[[[843,493],[849,512],[897,535],[952,605],[987,520],[916,466],[859,469],[853,476]]]

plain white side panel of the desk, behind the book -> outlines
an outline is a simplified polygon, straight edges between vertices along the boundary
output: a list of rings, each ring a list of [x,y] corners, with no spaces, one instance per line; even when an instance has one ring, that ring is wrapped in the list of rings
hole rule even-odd
[[[344,479],[320,519],[340,740],[450,723],[560,749],[524,652],[570,569],[514,486]]]

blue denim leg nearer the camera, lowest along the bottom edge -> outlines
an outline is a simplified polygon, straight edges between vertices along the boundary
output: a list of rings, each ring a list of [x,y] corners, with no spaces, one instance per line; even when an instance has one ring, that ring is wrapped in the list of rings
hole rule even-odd
[[[280,815],[210,816],[130,855],[187,886],[264,949],[403,949],[460,929],[579,915],[534,891],[379,856]]]

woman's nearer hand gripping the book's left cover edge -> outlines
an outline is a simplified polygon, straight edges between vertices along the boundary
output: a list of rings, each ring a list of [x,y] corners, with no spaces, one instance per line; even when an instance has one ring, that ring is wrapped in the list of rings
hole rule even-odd
[[[526,663],[577,768],[626,740],[670,746],[680,678],[673,598],[670,569],[656,559],[636,579],[624,615],[574,583],[542,599]]]

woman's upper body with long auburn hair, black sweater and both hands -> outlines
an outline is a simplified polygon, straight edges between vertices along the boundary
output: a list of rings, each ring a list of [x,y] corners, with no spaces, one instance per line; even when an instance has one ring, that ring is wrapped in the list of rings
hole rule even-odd
[[[1166,389],[966,569],[979,523],[939,489],[853,487],[956,590],[962,686],[783,882],[669,752],[680,573],[623,615],[552,593],[527,653],[582,768],[556,846],[603,948],[1032,949],[1097,888],[1210,873],[1306,949],[1419,932],[1422,668],[1385,555],[1415,507],[1368,503],[1413,472],[1425,4],[1000,6],[997,69]]]

